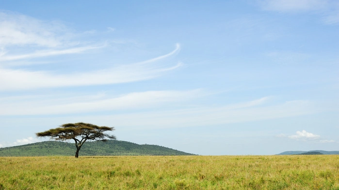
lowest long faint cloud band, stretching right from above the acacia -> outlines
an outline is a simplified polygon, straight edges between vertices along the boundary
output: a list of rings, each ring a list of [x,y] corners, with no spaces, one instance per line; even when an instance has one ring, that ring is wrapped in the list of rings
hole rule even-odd
[[[225,106],[199,106],[197,108],[175,109],[167,111],[144,111],[107,116],[89,116],[86,120],[95,123],[114,123],[119,127],[135,128],[183,128],[197,126],[223,125],[274,118],[295,117],[315,113],[312,103],[292,101],[267,105],[254,100]],[[271,104],[271,103],[270,103]],[[133,118],[133,119],[131,119]],[[74,121],[81,117],[72,117]]]

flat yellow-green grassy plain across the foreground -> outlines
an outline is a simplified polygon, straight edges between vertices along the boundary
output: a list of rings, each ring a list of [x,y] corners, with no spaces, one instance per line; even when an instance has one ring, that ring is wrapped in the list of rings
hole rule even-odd
[[[339,190],[338,155],[0,157],[0,190]]]

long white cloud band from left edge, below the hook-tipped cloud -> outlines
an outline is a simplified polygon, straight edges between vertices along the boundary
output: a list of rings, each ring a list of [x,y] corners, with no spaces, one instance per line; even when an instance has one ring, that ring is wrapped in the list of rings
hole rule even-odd
[[[1,98],[0,115],[50,115],[153,108],[202,96],[201,90],[145,91],[118,97],[107,95],[53,99],[44,96]],[[58,95],[60,96],[60,95]]]

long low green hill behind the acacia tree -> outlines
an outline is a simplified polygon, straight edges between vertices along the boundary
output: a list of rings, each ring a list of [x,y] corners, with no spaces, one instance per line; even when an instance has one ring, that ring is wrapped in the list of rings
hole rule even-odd
[[[74,143],[45,141],[28,145],[0,148],[0,156],[74,156]],[[80,149],[81,156],[122,155],[194,155],[157,145],[138,145],[127,141],[86,142]]]

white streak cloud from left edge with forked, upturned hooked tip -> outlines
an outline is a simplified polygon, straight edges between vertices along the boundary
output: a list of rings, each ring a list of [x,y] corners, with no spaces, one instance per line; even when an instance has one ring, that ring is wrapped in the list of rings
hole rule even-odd
[[[0,68],[0,90],[34,89],[50,87],[89,86],[102,84],[128,83],[147,80],[161,73],[177,69],[178,62],[172,67],[152,64],[178,52],[180,45],[169,54],[152,58],[140,63],[118,65],[105,70],[87,73],[54,74],[46,71],[27,71]]]

